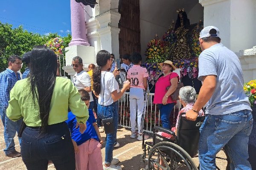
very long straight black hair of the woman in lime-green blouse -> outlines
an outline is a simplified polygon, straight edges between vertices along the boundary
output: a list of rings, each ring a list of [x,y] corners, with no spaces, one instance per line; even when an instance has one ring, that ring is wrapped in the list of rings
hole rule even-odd
[[[55,86],[57,72],[57,56],[52,49],[44,46],[35,46],[31,51],[31,65],[29,86],[32,99],[39,104],[41,119],[41,133],[46,132],[52,100],[53,88]]]

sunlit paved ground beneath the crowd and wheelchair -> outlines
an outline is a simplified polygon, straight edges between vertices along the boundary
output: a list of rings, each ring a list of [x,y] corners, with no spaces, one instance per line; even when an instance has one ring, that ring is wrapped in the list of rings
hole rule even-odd
[[[123,170],[140,170],[140,155],[143,153],[142,142],[137,141],[137,139],[130,138],[130,130],[119,127],[117,130],[117,141],[120,143],[120,147],[114,149],[113,156],[118,157],[120,165]],[[101,133],[105,136],[105,133]],[[148,139],[149,141],[151,139]],[[15,137],[16,150],[20,151],[20,145]],[[0,170],[26,170],[26,167],[21,159],[19,158],[9,158],[5,156],[3,149],[5,148],[5,142],[3,138],[3,125],[0,122]],[[224,157],[223,151],[221,151],[218,156]],[[102,157],[105,158],[105,144],[102,144]],[[198,158],[193,158],[196,164],[198,164]],[[225,170],[226,161],[217,160],[217,165],[221,170]],[[48,170],[55,170],[54,165],[49,165]]]

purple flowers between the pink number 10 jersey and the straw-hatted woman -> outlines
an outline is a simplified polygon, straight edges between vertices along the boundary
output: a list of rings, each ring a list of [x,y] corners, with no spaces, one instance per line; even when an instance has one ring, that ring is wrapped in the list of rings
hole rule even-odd
[[[145,67],[148,70],[148,84],[154,85],[162,73],[160,65],[157,62],[144,62],[141,66]]]

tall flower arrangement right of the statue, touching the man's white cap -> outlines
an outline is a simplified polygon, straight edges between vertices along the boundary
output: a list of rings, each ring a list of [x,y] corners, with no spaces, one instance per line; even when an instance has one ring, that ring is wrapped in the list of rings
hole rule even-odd
[[[201,22],[202,23],[202,22]],[[197,26],[195,26],[192,30],[193,36],[191,38],[191,48],[192,48],[192,54],[195,56],[199,57],[201,54],[201,47],[199,43],[199,37],[200,37],[200,32],[204,28],[204,25],[199,23]]]

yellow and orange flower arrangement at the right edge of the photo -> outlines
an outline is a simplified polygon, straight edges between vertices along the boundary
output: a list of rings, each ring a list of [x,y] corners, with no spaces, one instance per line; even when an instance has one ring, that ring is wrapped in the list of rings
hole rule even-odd
[[[251,106],[256,104],[256,79],[244,83],[244,91],[246,96],[249,98]]]

